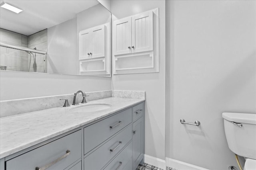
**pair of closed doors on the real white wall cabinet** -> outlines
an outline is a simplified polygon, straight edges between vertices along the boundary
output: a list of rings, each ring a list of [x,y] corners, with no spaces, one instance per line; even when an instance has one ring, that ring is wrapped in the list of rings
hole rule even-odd
[[[114,22],[114,55],[153,50],[153,12]]]

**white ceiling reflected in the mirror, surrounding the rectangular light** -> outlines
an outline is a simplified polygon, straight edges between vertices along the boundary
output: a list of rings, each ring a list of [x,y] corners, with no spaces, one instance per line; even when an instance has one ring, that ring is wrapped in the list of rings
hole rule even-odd
[[[2,1],[1,1],[2,2]],[[97,0],[4,0],[23,11],[19,14],[0,8],[0,28],[31,35],[76,17],[99,4]]]

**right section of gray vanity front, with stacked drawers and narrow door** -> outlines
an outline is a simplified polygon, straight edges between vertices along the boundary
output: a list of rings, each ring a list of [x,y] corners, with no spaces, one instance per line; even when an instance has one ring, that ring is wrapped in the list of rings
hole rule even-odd
[[[85,127],[84,153],[85,170],[136,170],[144,159],[144,102]]]

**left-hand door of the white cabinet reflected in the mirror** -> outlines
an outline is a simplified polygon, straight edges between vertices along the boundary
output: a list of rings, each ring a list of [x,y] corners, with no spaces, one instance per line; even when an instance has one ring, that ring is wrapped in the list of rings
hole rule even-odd
[[[91,51],[90,29],[79,32],[79,59],[89,59]]]

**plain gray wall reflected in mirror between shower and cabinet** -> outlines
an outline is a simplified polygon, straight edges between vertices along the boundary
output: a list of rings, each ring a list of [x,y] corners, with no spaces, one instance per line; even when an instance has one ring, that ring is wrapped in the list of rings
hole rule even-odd
[[[47,29],[48,73],[78,75],[76,18]]]

